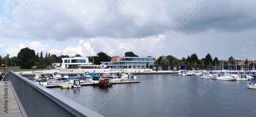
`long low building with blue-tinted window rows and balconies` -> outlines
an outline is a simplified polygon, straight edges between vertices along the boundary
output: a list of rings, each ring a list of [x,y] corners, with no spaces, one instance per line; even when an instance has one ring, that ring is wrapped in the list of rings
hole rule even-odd
[[[118,57],[119,61],[100,62],[103,68],[146,68],[146,64],[156,65],[155,57]]]

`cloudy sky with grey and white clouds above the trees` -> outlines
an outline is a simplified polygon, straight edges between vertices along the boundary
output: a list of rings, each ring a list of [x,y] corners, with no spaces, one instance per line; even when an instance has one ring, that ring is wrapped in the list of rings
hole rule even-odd
[[[0,55],[256,59],[256,1],[2,0]]]

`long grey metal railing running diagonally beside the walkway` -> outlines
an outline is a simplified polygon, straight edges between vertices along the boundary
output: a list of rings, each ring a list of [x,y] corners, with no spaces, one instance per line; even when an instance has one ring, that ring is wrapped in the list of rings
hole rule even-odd
[[[28,116],[102,116],[12,71],[8,80]]]

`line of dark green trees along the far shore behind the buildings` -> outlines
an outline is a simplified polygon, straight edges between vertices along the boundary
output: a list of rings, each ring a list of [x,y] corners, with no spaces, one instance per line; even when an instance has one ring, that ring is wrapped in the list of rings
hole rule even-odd
[[[72,57],[81,56],[79,54],[76,54]],[[138,55],[134,54],[133,52],[125,52],[124,56],[131,56],[131,57],[138,57]],[[4,64],[4,61],[8,62],[8,66],[17,67],[19,66],[22,69],[30,69],[32,67],[44,69],[44,68],[51,68],[52,63],[62,63],[61,58],[64,57],[70,57],[69,55],[60,55],[57,56],[56,54],[50,54],[46,53],[45,56],[43,56],[42,51],[39,53],[35,53],[33,49],[30,49],[28,47],[21,49],[17,56],[11,57],[10,54],[7,54],[5,58],[2,60],[2,57],[0,55],[0,63],[1,65]],[[89,62],[93,63],[94,65],[100,65],[100,62],[110,62],[111,56],[104,52],[99,52],[95,56],[87,56],[89,58]],[[151,57],[151,56],[148,56]],[[248,60],[246,59],[245,64],[248,65]],[[252,63],[251,63],[252,64]],[[181,60],[176,58],[173,55],[167,55],[167,56],[159,56],[156,60],[156,65],[223,65],[223,62],[218,60],[218,57],[215,57],[214,60],[212,60],[212,57],[209,53],[199,60],[196,53],[188,55],[186,58],[182,57]],[[236,65],[236,60],[234,60],[233,56],[228,58],[228,61],[224,61],[224,65]]]

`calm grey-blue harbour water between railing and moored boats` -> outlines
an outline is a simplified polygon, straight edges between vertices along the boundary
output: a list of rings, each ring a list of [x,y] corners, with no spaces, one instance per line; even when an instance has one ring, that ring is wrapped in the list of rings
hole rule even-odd
[[[250,81],[199,76],[137,75],[140,83],[110,88],[82,86],[59,93],[103,116],[255,116],[256,90]],[[88,79],[85,80],[89,82]]]

